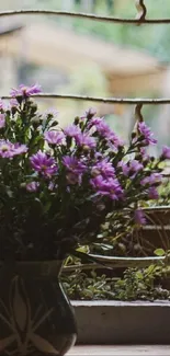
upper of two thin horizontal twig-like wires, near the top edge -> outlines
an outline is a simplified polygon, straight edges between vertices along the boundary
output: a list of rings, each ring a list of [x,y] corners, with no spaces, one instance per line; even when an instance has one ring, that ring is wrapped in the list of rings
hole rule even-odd
[[[79,18],[83,20],[93,20],[93,21],[104,21],[112,23],[126,23],[126,24],[161,24],[170,23],[170,18],[168,19],[122,19],[113,16],[101,16],[94,15],[91,13],[83,12],[68,12],[68,11],[56,11],[56,10],[41,10],[41,9],[27,9],[27,10],[9,10],[0,12],[0,16],[13,16],[13,15],[58,15],[58,16],[69,16],[69,18]]]

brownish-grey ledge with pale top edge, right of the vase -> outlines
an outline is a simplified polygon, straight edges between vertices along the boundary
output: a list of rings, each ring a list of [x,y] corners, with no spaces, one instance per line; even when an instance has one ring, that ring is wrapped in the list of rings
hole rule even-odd
[[[170,301],[72,301],[81,344],[170,344]]]

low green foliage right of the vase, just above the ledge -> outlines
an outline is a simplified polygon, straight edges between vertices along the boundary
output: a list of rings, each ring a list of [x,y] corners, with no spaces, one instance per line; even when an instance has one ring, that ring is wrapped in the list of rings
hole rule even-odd
[[[160,278],[165,269],[150,265],[146,268],[128,268],[122,277],[99,276],[95,271],[89,274],[76,269],[61,275],[64,289],[72,300],[163,300],[170,299],[170,291],[162,288]]]

